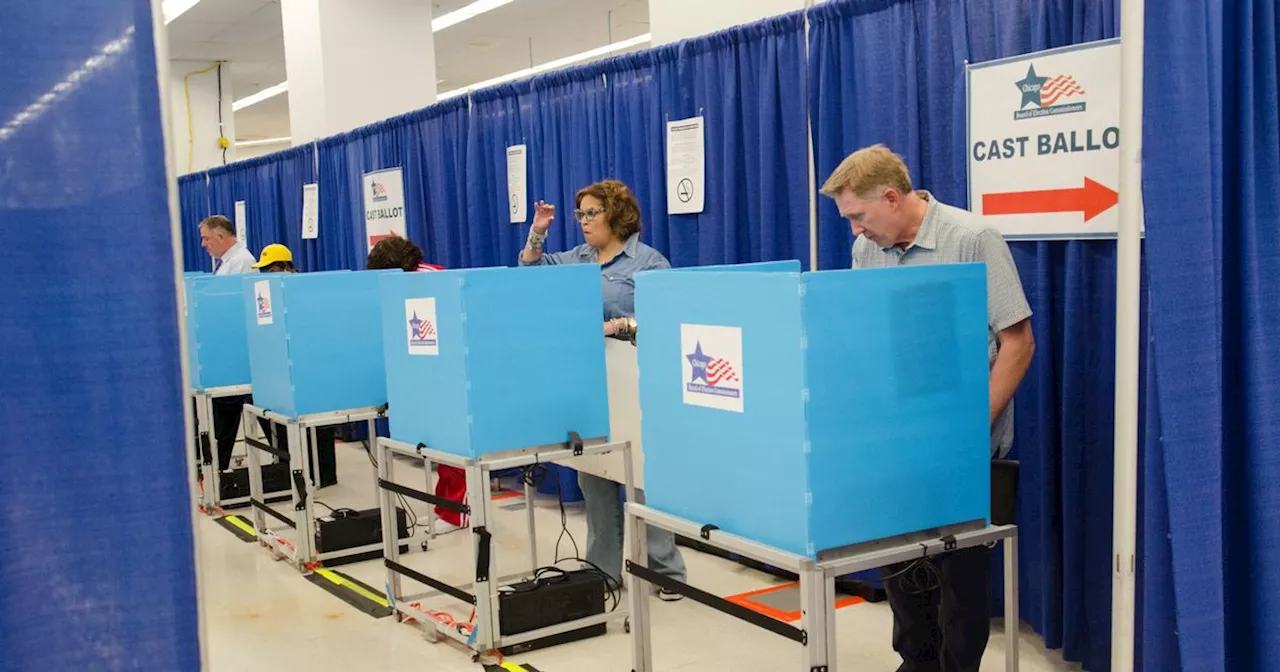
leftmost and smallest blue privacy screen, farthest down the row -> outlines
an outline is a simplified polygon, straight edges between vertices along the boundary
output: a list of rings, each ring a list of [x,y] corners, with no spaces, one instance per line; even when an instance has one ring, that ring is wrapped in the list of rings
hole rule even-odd
[[[244,289],[238,276],[183,275],[192,389],[247,385]]]

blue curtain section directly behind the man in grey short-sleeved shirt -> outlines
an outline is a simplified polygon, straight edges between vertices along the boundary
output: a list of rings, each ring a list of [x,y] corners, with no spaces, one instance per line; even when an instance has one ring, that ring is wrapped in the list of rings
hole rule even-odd
[[[964,63],[1114,37],[1112,0],[856,0],[810,10],[809,92],[820,184],[883,142],[913,180],[966,206]],[[819,197],[819,265],[852,236]],[[1034,311],[1036,360],[1016,397],[1023,618],[1087,669],[1110,664],[1115,243],[1011,244]],[[998,563],[997,563],[998,567]],[[1001,575],[995,573],[997,608]]]

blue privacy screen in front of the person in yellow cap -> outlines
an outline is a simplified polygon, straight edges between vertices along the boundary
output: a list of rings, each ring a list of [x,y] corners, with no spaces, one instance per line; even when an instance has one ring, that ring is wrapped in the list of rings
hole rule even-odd
[[[291,417],[387,402],[378,279],[401,271],[242,276],[253,402]]]

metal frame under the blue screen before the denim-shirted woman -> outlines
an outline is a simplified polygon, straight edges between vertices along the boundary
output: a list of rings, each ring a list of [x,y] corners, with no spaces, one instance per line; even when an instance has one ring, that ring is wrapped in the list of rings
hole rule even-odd
[[[453,641],[457,641],[472,652],[474,660],[484,653],[506,646],[513,646],[584,627],[608,623],[611,621],[626,620],[627,611],[620,600],[613,611],[605,611],[602,614],[566,621],[563,623],[531,630],[529,632],[521,632],[518,635],[502,635],[498,627],[499,589],[517,582],[512,581],[512,579],[526,579],[531,576],[531,573],[502,577],[495,576],[497,548],[492,543],[493,532],[489,529],[489,521],[492,520],[492,500],[489,497],[490,474],[545,462],[563,463],[564,461],[570,461],[575,457],[605,454],[616,451],[621,451],[626,458],[626,483],[622,485],[626,488],[627,502],[634,502],[636,492],[634,485],[635,479],[631,470],[630,442],[608,443],[605,439],[584,440],[579,438],[577,434],[571,433],[570,442],[567,443],[522,448],[471,458],[433,451],[421,444],[413,445],[394,439],[376,439],[379,506],[381,507],[383,516],[383,557],[387,567],[387,599],[390,608],[396,612],[397,620],[413,620],[426,630],[429,639],[435,640],[443,635]],[[447,499],[438,498],[434,494],[406,488],[394,483],[396,456],[421,461],[429,490],[434,465],[447,465],[466,471],[467,502],[465,504],[449,502]],[[463,586],[452,586],[401,564],[399,548],[394,541],[390,541],[393,538],[389,535],[389,531],[394,531],[390,527],[390,521],[394,515],[393,507],[396,504],[396,495],[403,495],[428,504],[449,508],[470,517],[470,530],[472,536],[471,550],[472,559],[475,561],[475,582]],[[526,480],[525,520],[529,527],[530,572],[535,572],[539,568],[538,535],[534,521],[532,495],[534,488]],[[413,581],[430,586],[434,590],[406,595],[403,588],[401,586],[401,580],[403,577],[412,579]],[[472,589],[471,593],[466,591],[468,588]],[[436,621],[428,612],[417,609],[411,604],[417,600],[440,595],[449,595],[475,607],[475,621],[472,623],[474,630],[471,635],[465,635],[454,626]]]

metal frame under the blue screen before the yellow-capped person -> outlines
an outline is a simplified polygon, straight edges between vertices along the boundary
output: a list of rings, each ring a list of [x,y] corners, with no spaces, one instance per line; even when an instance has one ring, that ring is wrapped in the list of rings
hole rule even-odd
[[[361,547],[346,548],[342,550],[333,550],[328,553],[317,553],[315,548],[316,538],[316,516],[315,516],[315,490],[316,485],[311,480],[311,468],[317,465],[319,460],[316,457],[316,429],[329,425],[344,425],[348,422],[367,422],[369,424],[369,436],[370,442],[378,435],[375,422],[387,416],[385,406],[369,406],[362,408],[351,408],[346,411],[330,411],[324,413],[307,413],[298,417],[284,416],[273,411],[266,411],[259,408],[257,406],[246,403],[244,404],[244,422],[250,422],[250,419],[261,417],[269,420],[270,422],[284,425],[285,434],[288,436],[288,449],[282,451],[268,445],[266,443],[246,438],[248,444],[248,483],[250,483],[250,506],[252,507],[252,521],[253,530],[257,535],[259,543],[266,547],[276,558],[289,559],[298,571],[307,573],[320,567],[324,561],[334,558],[344,558],[348,556],[357,556],[361,553],[376,552],[381,548],[380,543],[365,544]],[[302,434],[308,435],[308,449],[303,449]],[[293,504],[293,517],[276,512],[268,506],[264,499],[262,493],[262,472],[261,453],[273,454],[279,460],[289,461],[289,481],[292,489],[289,490],[289,499]],[[283,524],[279,527],[271,527],[268,524],[268,516]],[[384,521],[385,522],[385,521]],[[385,526],[384,526],[385,529]],[[282,532],[289,530],[293,532],[293,540],[280,536]],[[393,541],[394,541],[394,526]]]

